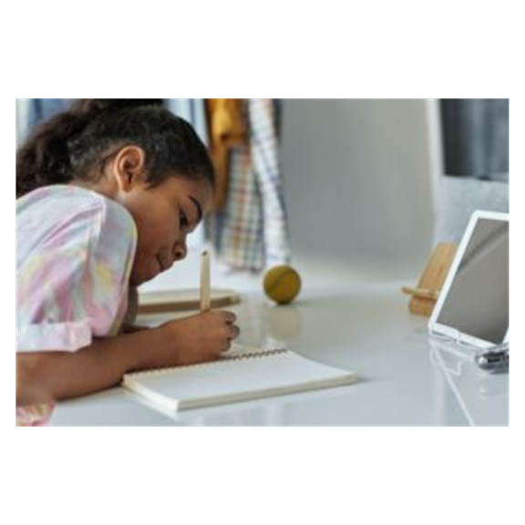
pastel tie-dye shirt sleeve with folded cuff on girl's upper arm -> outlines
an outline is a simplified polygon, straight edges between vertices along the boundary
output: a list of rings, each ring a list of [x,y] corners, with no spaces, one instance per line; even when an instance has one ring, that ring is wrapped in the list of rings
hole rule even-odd
[[[103,199],[47,232],[15,275],[15,352],[74,352],[110,335],[136,245],[128,211]]]

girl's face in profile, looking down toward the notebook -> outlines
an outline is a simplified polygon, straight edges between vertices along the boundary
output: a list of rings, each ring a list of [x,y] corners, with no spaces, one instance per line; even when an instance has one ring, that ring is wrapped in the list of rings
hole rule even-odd
[[[210,207],[212,189],[207,180],[182,177],[169,177],[151,188],[143,170],[137,175],[129,170],[135,166],[132,156],[128,161],[130,164],[121,164],[122,173],[114,179],[113,198],[129,210],[137,224],[139,246],[131,284],[139,286],[186,257],[186,238]]]

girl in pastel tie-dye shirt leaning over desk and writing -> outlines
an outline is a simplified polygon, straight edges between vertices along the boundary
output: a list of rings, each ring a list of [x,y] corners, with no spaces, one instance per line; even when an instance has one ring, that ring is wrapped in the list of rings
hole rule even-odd
[[[235,315],[123,334],[131,287],[186,256],[213,192],[208,153],[162,98],[81,98],[15,155],[15,426],[130,371],[212,360]]]

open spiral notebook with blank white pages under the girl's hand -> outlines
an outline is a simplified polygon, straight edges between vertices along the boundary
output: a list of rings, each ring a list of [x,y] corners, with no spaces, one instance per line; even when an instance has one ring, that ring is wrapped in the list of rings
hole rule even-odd
[[[262,397],[351,385],[354,372],[321,365],[290,350],[235,345],[221,360],[124,377],[123,386],[160,411],[177,413]]]

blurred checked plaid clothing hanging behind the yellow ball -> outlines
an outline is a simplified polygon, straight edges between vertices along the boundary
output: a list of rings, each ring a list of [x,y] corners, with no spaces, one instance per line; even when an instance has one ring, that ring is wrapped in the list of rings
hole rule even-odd
[[[273,98],[244,98],[250,144],[232,149],[226,209],[211,238],[232,268],[261,271],[290,262]]]

